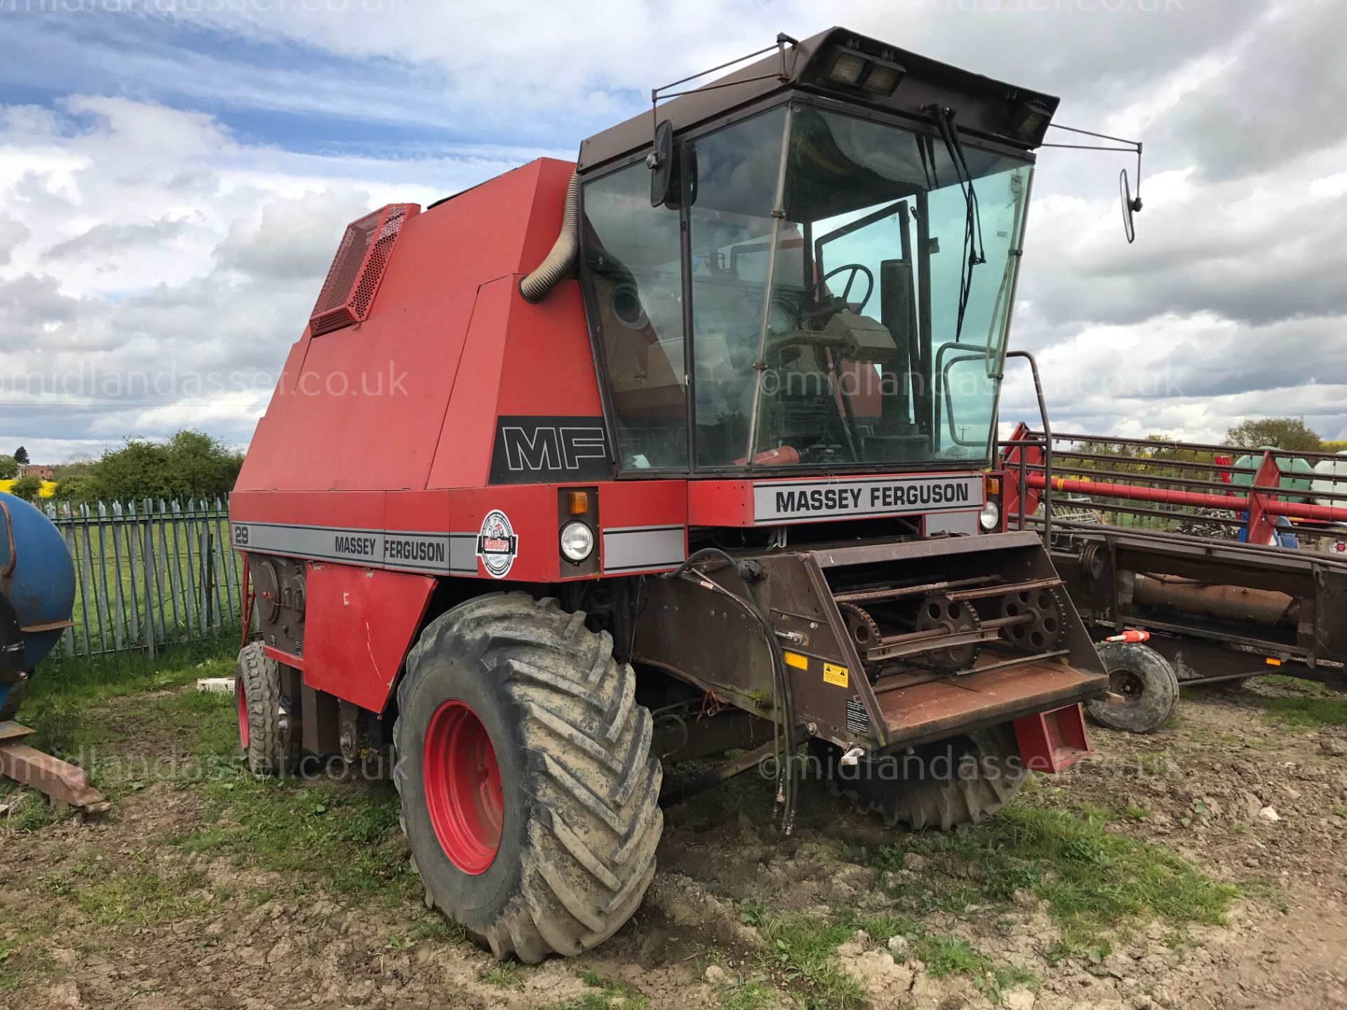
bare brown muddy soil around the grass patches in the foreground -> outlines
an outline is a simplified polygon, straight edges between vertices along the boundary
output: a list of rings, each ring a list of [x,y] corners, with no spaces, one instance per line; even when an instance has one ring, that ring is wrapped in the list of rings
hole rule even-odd
[[[920,922],[997,966],[1018,966],[1024,971],[1008,976],[1017,983],[991,984],[975,972],[936,978],[919,957],[902,956],[901,936],[865,932],[841,944],[835,964],[877,1010],[993,1001],[1014,1010],[1347,1007],[1347,729],[1269,725],[1259,692],[1288,689],[1188,691],[1175,725],[1146,738],[1092,727],[1094,754],[1040,777],[1024,800],[1130,811],[1109,830],[1241,886],[1224,925],[1176,932],[1142,917],[1119,921],[1107,943],[1064,953],[1053,909],[1018,890],[998,905],[933,908]],[[135,699],[108,704],[116,715],[133,711]],[[179,745],[141,734],[135,747],[154,754]],[[835,916],[838,908],[882,916],[901,910],[890,885],[902,878],[958,885],[977,875],[940,855],[884,869],[877,855],[904,836],[818,785],[806,789],[795,835],[780,839],[770,799],[750,773],[671,808],[659,874],[616,937],[579,962],[498,971],[471,944],[427,928],[415,900],[389,906],[337,900],[322,886],[296,891],[292,875],[185,851],[171,839],[201,821],[207,800],[180,784],[150,782],[88,823],[0,827],[0,951],[12,951],[0,955],[0,968],[16,986],[0,1005],[827,1006],[827,994],[773,970],[772,944],[744,900],[785,916]],[[82,901],[78,874],[54,875],[94,865],[170,886],[131,889],[127,900],[145,908],[109,914]]]

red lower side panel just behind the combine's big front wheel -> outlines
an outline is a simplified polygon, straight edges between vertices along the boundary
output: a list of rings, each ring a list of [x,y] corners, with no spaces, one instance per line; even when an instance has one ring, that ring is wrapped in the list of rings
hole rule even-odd
[[[428,575],[310,564],[304,683],[383,711],[434,588]]]

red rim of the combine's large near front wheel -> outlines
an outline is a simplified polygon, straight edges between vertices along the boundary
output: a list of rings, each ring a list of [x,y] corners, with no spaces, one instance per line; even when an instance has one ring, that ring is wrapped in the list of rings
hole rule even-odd
[[[466,874],[484,873],[501,844],[505,804],[496,747],[466,703],[445,702],[430,718],[422,780],[445,855]]]

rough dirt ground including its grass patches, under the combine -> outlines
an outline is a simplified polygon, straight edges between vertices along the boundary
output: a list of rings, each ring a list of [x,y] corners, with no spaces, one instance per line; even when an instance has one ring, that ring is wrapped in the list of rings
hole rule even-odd
[[[1300,706],[1290,723],[1277,699]],[[220,751],[228,702],[100,700],[85,742]],[[1161,733],[1092,727],[1088,760],[952,840],[890,831],[819,785],[783,840],[770,786],[745,774],[665,812],[659,874],[616,937],[539,967],[498,967],[428,916],[379,785],[230,793],[133,772],[86,823],[11,793],[0,1005],[1347,1007],[1347,727],[1312,715],[1342,704],[1289,681],[1185,691]],[[357,848],[366,877],[335,865]],[[1138,890],[1164,859],[1173,875]]]

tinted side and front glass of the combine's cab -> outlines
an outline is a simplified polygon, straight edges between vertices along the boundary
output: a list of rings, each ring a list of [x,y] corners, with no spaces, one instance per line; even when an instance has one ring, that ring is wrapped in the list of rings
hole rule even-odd
[[[1032,170],[964,158],[975,217],[939,137],[796,104],[688,141],[680,210],[587,184],[622,467],[987,459]]]

